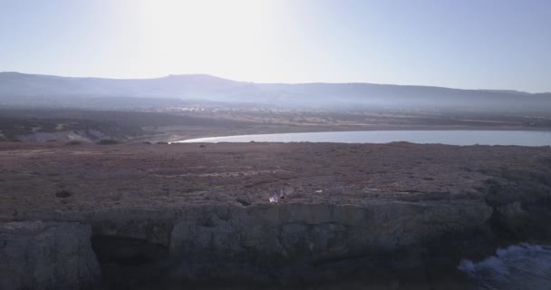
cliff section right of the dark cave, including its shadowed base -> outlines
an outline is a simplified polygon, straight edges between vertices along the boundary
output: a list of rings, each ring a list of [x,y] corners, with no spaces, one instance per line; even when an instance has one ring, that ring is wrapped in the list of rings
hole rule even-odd
[[[180,261],[172,275],[248,275],[261,281],[333,278],[343,270],[369,268],[362,259],[373,262],[382,253],[427,246],[484,227],[491,214],[491,208],[472,201],[188,208],[171,234],[169,255]]]

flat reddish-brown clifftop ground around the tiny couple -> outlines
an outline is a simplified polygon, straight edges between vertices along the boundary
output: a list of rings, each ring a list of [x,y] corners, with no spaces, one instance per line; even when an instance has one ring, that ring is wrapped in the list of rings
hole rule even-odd
[[[205,203],[351,204],[478,198],[503,169],[551,164],[548,147],[335,143],[63,145],[0,142],[0,219],[31,211]]]

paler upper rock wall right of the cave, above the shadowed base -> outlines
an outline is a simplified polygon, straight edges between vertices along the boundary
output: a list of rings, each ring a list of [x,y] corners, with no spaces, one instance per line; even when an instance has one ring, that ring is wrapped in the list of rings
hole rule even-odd
[[[176,221],[170,251],[256,251],[315,260],[408,247],[480,227],[491,213],[491,208],[474,201],[191,207]]]

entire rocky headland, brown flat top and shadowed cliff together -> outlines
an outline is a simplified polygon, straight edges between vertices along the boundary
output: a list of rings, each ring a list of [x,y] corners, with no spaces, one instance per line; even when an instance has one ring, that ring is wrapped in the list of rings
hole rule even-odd
[[[463,289],[460,258],[551,240],[548,147],[2,142],[0,164],[0,285]]]

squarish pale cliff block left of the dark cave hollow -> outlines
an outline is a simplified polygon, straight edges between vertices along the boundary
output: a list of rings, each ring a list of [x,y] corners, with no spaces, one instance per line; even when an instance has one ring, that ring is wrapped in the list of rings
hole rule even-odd
[[[100,281],[91,227],[67,222],[0,224],[0,289],[88,289]]]

